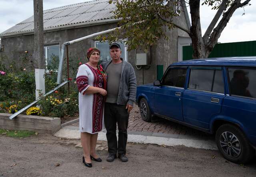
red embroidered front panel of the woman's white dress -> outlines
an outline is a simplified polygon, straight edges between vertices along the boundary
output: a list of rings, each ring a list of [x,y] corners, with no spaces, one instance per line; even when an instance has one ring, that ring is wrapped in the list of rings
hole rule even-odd
[[[90,65],[86,64],[94,75],[93,86],[98,88],[103,88],[103,76],[97,72],[96,69],[92,68]],[[93,107],[92,107],[92,133],[102,130],[103,123],[103,107],[104,107],[104,97],[100,93],[93,94]]]

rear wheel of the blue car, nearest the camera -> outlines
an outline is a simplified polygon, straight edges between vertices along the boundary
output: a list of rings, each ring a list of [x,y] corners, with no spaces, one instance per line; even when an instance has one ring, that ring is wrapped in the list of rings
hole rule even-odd
[[[237,126],[221,125],[216,131],[216,144],[224,158],[233,163],[245,164],[254,157],[254,149]]]

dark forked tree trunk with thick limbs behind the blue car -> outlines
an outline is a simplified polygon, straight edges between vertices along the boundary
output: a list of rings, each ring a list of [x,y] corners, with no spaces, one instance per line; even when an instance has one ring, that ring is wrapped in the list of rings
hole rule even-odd
[[[218,38],[220,38],[222,31],[226,27],[228,21],[230,20],[235,10],[237,8],[246,6],[250,2],[250,0],[246,0],[243,3],[240,2],[241,0],[234,0],[234,2],[232,2],[228,10],[223,14],[222,19],[220,20],[218,25],[214,28],[222,12],[227,7],[227,0],[223,0],[222,4],[220,5],[220,9],[214,16],[214,19],[211,22],[210,26],[206,30],[204,38],[202,38],[200,24],[200,0],[189,0],[192,21],[189,36],[192,39],[192,47],[194,50],[192,56],[193,58],[208,58],[215,44],[218,42]]]

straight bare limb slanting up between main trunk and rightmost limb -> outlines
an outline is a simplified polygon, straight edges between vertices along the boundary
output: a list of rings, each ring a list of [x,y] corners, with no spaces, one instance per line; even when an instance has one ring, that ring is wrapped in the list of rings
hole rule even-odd
[[[210,23],[206,32],[204,33],[203,40],[204,40],[205,43],[209,39],[210,34],[212,33],[212,30],[213,30],[214,26],[216,25],[216,23],[218,22],[222,12],[226,9],[226,7],[228,5],[227,3],[228,3],[228,0],[222,0],[218,11],[216,12],[214,18],[212,19],[212,22]]]

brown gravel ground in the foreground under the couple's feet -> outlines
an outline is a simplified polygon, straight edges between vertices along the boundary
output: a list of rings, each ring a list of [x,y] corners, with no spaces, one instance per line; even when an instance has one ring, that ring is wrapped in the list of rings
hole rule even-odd
[[[128,143],[129,161],[109,163],[106,142],[99,141],[97,153],[102,162],[92,168],[82,163],[78,140],[38,135],[24,139],[0,136],[0,176],[90,176],[90,177],[165,177],[232,176],[255,177],[256,161],[238,165],[226,161],[218,151],[184,146],[163,147]]]

